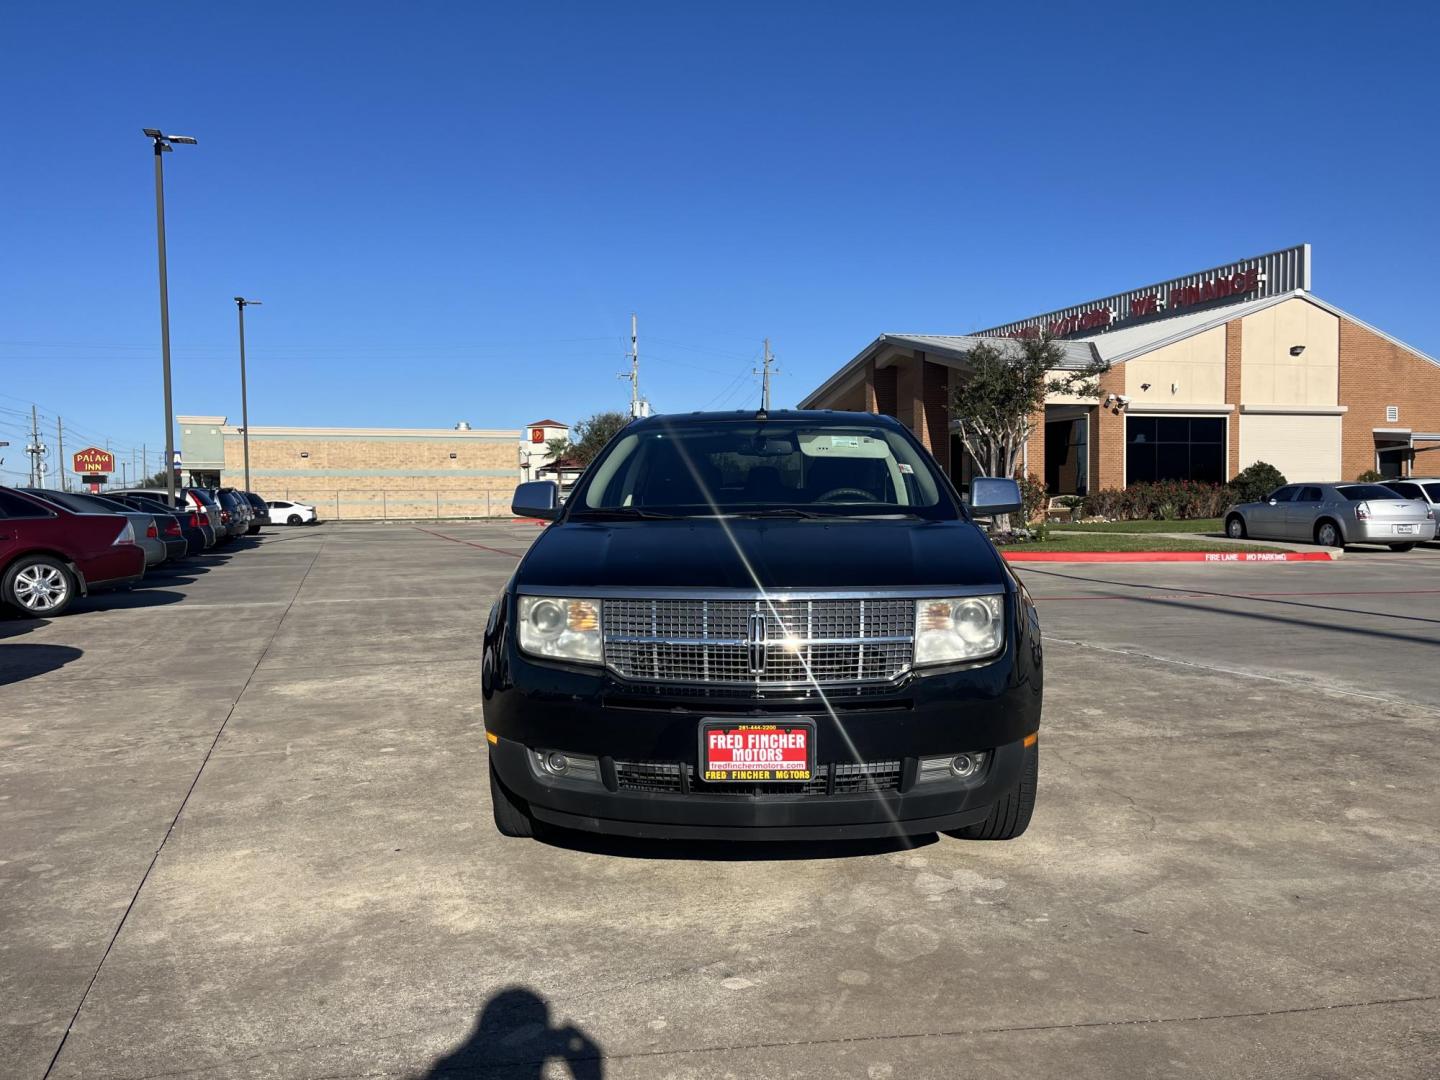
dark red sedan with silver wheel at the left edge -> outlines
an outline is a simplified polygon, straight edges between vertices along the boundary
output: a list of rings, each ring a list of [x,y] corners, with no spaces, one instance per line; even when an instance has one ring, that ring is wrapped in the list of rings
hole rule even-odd
[[[101,585],[130,585],[145,553],[128,518],[73,514],[0,487],[0,605],[35,618],[65,612]]]

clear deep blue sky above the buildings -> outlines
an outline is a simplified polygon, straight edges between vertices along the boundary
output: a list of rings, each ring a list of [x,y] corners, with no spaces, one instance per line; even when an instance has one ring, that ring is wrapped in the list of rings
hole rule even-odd
[[[50,3],[0,12],[0,477],[252,425],[792,405],[1293,243],[1440,354],[1436,4]]]

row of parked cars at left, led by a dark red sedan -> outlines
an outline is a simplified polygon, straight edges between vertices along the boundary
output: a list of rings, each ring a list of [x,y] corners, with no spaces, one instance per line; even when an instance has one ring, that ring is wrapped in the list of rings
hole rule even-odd
[[[92,589],[253,536],[269,524],[259,495],[181,487],[88,494],[0,487],[0,606],[62,615]]]

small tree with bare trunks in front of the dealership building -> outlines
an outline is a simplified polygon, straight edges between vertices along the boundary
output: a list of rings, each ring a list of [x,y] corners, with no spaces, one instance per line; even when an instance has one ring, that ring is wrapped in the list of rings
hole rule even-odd
[[[1094,397],[1100,376],[1110,370],[1103,360],[1064,367],[1066,351],[1048,334],[981,341],[962,359],[969,372],[950,395],[950,416],[965,449],[989,477],[1017,474],[1045,395]]]

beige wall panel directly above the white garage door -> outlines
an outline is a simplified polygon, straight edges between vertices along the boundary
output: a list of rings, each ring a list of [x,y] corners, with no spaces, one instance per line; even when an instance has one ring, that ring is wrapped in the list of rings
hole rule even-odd
[[[1305,346],[1290,356],[1292,346]],[[1240,400],[1244,405],[1336,405],[1339,320],[1305,300],[1240,321]]]

